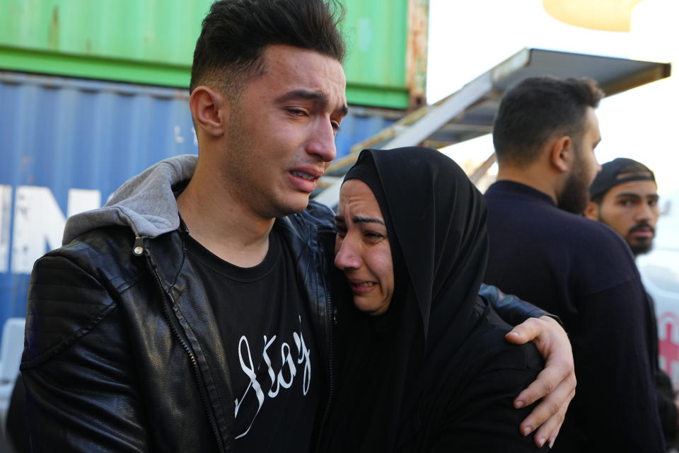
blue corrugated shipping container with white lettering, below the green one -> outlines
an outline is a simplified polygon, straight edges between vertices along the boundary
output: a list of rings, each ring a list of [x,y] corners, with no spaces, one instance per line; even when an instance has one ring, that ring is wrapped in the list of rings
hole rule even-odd
[[[0,71],[0,326],[25,316],[30,270],[61,245],[66,217],[100,207],[156,161],[197,153],[187,99],[173,88]],[[337,154],[394,115],[354,108]]]

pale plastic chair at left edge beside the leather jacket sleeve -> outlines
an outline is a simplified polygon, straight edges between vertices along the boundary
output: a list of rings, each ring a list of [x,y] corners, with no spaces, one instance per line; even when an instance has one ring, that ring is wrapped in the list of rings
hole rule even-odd
[[[2,328],[0,343],[0,427],[5,430],[5,420],[16,377],[19,374],[23,353],[24,318],[8,318]]]

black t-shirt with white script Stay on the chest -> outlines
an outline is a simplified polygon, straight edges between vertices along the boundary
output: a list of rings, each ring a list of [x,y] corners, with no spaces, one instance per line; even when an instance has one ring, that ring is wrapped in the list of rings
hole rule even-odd
[[[253,268],[227,263],[190,237],[186,247],[226,349],[236,451],[308,451],[320,357],[286,243],[274,229],[266,258]]]

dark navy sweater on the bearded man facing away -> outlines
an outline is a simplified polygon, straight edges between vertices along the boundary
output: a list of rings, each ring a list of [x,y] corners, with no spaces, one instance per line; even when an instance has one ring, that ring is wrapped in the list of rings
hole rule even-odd
[[[627,244],[527,185],[485,197],[485,282],[557,314],[571,339],[578,386],[554,451],[663,452],[652,314]]]

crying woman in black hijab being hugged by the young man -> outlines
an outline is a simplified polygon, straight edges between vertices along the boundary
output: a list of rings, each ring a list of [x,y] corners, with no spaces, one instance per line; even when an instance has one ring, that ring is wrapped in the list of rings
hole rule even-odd
[[[510,327],[477,295],[486,205],[465,173],[432,149],[366,149],[336,223],[335,265],[354,304],[340,308],[322,451],[538,451],[518,432],[531,406],[512,400],[542,359],[532,343],[507,343]]]

